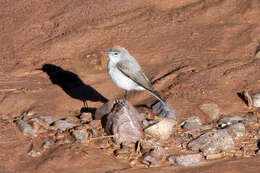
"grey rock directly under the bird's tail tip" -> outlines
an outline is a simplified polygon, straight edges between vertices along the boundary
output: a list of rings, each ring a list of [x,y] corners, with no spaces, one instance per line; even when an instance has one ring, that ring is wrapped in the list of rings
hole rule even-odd
[[[166,103],[157,102],[152,106],[152,110],[154,114],[160,117],[178,121],[177,115],[168,101]]]

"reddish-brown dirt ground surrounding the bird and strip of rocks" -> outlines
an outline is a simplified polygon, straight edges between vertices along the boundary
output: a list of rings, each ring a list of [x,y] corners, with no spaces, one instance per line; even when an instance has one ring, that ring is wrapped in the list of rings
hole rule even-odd
[[[100,53],[112,45],[136,57],[180,119],[196,114],[208,121],[198,109],[205,101],[217,103],[222,115],[247,113],[238,93],[260,91],[259,16],[259,0],[0,1],[1,172],[257,172],[260,158],[133,169],[76,144],[30,158],[31,140],[12,121],[28,110],[54,119],[74,115],[82,99],[92,108],[102,105],[89,92],[122,97]],[[52,82],[39,70],[44,64],[78,78],[69,86]],[[153,100],[147,92],[130,96],[134,104]]]

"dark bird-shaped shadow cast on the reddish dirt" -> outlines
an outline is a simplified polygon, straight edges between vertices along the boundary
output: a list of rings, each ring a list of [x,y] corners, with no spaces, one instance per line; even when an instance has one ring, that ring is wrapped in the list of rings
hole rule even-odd
[[[40,69],[47,73],[51,82],[54,85],[58,85],[66,92],[70,97],[81,100],[86,103],[88,100],[93,102],[106,103],[107,98],[102,96],[97,90],[89,85],[86,85],[75,73],[71,71],[63,70],[53,64],[44,64]],[[95,112],[95,108],[83,107],[81,112]]]

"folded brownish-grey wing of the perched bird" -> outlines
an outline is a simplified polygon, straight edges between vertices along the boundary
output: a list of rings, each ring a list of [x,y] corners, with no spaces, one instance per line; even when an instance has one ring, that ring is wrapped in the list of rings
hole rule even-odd
[[[131,66],[131,64],[128,64]],[[145,76],[142,70],[136,70],[135,67],[129,67],[128,65],[124,65],[123,63],[117,63],[117,68],[127,77],[132,79],[135,83],[142,86],[143,88],[153,91],[153,87],[149,79]]]

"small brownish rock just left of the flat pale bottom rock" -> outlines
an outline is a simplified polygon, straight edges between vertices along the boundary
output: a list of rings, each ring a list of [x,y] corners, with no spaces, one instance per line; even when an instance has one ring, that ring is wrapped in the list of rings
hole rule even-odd
[[[144,160],[150,164],[158,163],[165,157],[165,151],[162,147],[156,147],[154,150],[148,152],[144,156]]]

